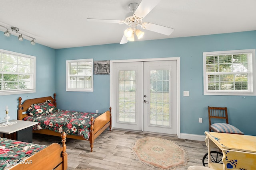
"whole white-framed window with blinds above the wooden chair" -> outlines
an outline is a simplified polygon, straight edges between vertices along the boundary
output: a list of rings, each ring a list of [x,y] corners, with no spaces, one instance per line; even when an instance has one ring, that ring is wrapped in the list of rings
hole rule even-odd
[[[204,94],[256,96],[255,49],[205,52]]]

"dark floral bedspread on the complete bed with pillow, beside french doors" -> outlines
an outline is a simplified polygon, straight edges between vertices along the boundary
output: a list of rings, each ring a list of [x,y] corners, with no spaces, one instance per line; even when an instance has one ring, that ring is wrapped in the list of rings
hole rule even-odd
[[[96,118],[101,114],[59,110],[39,117],[27,116],[24,117],[24,120],[39,122],[33,126],[33,130],[49,129],[59,133],[64,131],[67,135],[78,135],[88,140],[90,137],[90,119],[91,117]]]

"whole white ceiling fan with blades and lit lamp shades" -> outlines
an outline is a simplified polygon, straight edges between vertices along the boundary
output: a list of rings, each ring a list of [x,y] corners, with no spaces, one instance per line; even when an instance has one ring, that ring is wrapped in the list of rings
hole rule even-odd
[[[87,21],[93,22],[105,22],[105,23],[119,23],[129,25],[130,27],[124,31],[124,35],[121,39],[120,44],[125,44],[128,41],[134,41],[134,35],[140,39],[144,32],[137,29],[137,26],[142,27],[143,29],[161,33],[164,35],[170,35],[174,29],[165,27],[162,25],[156,25],[154,23],[142,22],[142,19],[160,2],[161,0],[142,0],[140,5],[137,3],[131,3],[128,5],[130,13],[125,20],[106,20],[106,19],[94,19],[87,18]]]

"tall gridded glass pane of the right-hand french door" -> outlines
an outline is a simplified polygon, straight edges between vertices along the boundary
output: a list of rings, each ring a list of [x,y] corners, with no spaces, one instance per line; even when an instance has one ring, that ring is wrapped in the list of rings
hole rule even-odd
[[[169,70],[150,70],[150,125],[170,126]]]

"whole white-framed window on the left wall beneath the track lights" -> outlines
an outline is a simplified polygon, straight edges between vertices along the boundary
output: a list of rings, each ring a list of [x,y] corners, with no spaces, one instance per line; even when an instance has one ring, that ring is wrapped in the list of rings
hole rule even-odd
[[[36,57],[0,49],[0,95],[36,92]]]

